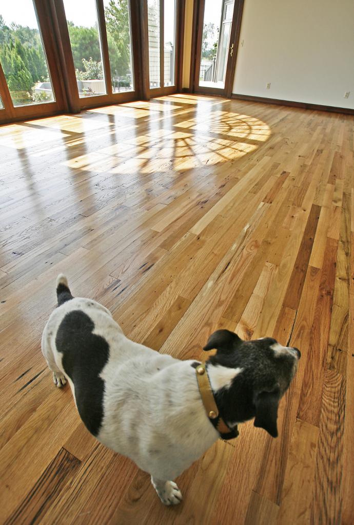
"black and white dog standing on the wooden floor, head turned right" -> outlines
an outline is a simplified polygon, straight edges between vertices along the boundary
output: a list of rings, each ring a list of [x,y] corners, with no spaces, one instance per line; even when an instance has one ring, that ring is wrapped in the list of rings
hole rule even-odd
[[[206,412],[202,400],[200,363],[130,341],[109,310],[73,298],[63,275],[57,278],[57,297],[42,335],[54,383],[60,388],[68,380],[88,430],[149,472],[162,502],[176,505],[182,496],[172,480],[220,438],[216,414]],[[222,437],[235,437],[237,425],[252,418],[276,437],[278,403],[300,352],[271,338],[242,341],[228,330],[210,336],[204,350],[211,349],[217,353],[204,372],[211,400],[230,430]]]

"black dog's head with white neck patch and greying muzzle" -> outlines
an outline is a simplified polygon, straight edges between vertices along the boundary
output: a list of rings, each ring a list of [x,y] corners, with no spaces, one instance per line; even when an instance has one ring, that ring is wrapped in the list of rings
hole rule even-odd
[[[299,350],[270,337],[243,341],[229,330],[210,335],[204,350],[212,349],[217,353],[207,367],[223,418],[235,424],[254,417],[254,426],[277,437],[278,404],[296,373]],[[214,384],[213,376],[219,378]]]

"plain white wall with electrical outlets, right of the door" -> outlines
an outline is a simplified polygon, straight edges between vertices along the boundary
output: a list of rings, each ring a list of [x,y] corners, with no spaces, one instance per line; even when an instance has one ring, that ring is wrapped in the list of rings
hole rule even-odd
[[[354,109],[354,0],[245,0],[232,92]]]

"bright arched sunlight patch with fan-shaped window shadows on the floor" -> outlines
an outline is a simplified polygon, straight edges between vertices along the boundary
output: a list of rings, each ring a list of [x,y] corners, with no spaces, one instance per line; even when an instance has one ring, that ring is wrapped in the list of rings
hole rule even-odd
[[[117,158],[110,172],[126,178],[128,172],[132,176],[136,171],[141,176],[156,170],[180,173],[235,161],[271,136],[269,125],[258,118],[220,110],[225,100],[205,97],[203,104],[199,98],[196,109],[197,100],[189,97],[173,95],[91,110],[116,125],[125,120],[126,138],[101,150]],[[186,118],[176,122],[180,116]],[[146,119],[146,129],[131,140],[134,121],[141,119]]]

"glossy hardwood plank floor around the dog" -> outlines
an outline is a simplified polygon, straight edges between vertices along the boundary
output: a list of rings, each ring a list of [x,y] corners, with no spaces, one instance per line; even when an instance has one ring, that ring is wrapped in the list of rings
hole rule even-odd
[[[2,522],[353,523],[353,123],[176,95],[0,128]],[[221,327],[301,349],[280,436],[242,425],[163,507],[52,384],[61,271],[178,358]]]

